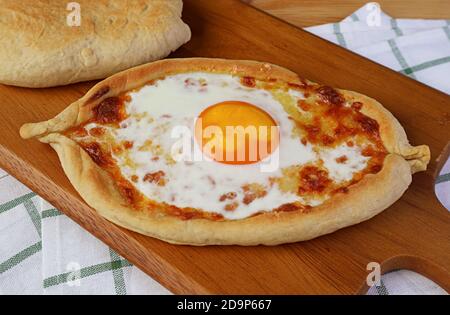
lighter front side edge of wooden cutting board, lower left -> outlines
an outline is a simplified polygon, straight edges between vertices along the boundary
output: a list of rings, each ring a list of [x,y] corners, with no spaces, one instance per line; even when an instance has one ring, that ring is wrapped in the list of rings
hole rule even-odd
[[[121,256],[129,260],[133,265],[144,271],[147,275],[155,279],[169,291],[175,294],[211,294],[200,283],[193,280],[193,278],[186,276],[179,269],[174,267],[170,262],[166,261],[163,257],[155,252],[152,255],[148,255],[144,248],[134,238],[127,237],[127,233],[137,234],[132,231],[128,231],[121,228],[106,219],[96,214],[95,210],[90,208],[81,197],[77,198],[73,194],[63,191],[57,186],[51,179],[42,174],[39,170],[35,169],[31,165],[25,163],[18,156],[9,152],[3,145],[0,144],[0,167],[8,173],[14,173],[14,177],[22,184],[27,186],[32,191],[38,193],[38,195],[61,212],[66,214],[71,220],[75,221],[78,225],[82,226],[87,232],[94,237],[101,240],[107,246],[116,250]],[[39,183],[39,184],[37,184]],[[63,202],[63,201],[66,202]],[[72,207],[67,207],[66,203],[71,203]],[[76,211],[71,211],[68,208],[88,209],[95,214],[95,219],[86,218],[85,215],[80,216]],[[108,228],[98,227],[99,223],[94,222],[99,220],[100,225],[108,225]],[[120,239],[114,240],[117,236],[120,239],[126,239],[127,245],[123,246]],[[147,237],[139,235],[139,237]],[[152,239],[155,242],[162,242],[156,239]],[[130,250],[131,245],[131,250]],[[132,253],[130,253],[132,252]],[[144,258],[144,259],[142,259]],[[164,270],[164,274],[158,273],[158,270]]]

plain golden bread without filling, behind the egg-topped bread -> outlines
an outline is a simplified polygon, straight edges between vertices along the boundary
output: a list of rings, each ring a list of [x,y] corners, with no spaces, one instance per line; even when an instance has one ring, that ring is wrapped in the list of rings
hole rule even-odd
[[[105,78],[164,58],[191,36],[182,0],[68,3],[0,0],[0,83],[50,87]]]

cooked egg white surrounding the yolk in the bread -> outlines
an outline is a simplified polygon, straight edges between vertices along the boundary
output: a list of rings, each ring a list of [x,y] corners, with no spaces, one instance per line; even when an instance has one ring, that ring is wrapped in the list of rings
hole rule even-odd
[[[186,81],[188,80],[188,81]],[[189,82],[189,84],[186,84]],[[201,82],[207,85],[202,85]],[[298,91],[288,91],[295,101],[304,98]],[[121,168],[122,174],[134,183],[136,188],[148,198],[165,202],[180,208],[191,207],[215,212],[226,219],[242,219],[257,212],[270,211],[283,204],[302,201],[293,193],[282,192],[276,184],[271,185],[271,178],[281,177],[281,169],[302,165],[318,159],[324,161],[330,175],[337,181],[347,180],[352,174],[365,167],[367,159],[361,157],[358,148],[338,147],[323,152],[316,152],[312,145],[302,144],[293,130],[294,123],[271,92],[245,87],[238,77],[227,74],[183,73],[168,76],[146,85],[138,91],[129,93],[131,100],[126,104],[129,117],[121,122],[120,128],[109,128],[117,142],[131,141],[133,147],[126,158],[113,155]],[[193,134],[194,122],[206,108],[224,101],[242,101],[258,106],[277,122],[280,131],[278,147],[279,164],[273,172],[262,172],[261,163],[246,165],[229,165],[215,161],[179,161],[170,158],[173,145],[179,139],[172,137],[176,127],[186,127]],[[87,129],[95,127],[90,124]],[[146,141],[152,140],[153,150],[140,150]],[[199,147],[193,145],[193,150]],[[336,165],[335,158],[347,155],[349,162],[345,167]],[[157,159],[156,159],[157,157]],[[129,160],[133,161],[130,165]],[[146,174],[163,171],[166,183],[159,186],[144,181]],[[242,186],[258,183],[265,187],[267,194],[249,204],[242,201]],[[226,202],[220,197],[228,192],[237,194],[239,202],[233,211],[226,211]],[[231,200],[230,202],[232,202]],[[311,199],[311,205],[321,201]]]

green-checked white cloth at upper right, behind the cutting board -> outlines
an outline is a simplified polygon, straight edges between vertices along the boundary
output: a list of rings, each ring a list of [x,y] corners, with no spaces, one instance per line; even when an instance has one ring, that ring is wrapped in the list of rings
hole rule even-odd
[[[306,30],[450,94],[450,20],[393,19],[369,3]]]

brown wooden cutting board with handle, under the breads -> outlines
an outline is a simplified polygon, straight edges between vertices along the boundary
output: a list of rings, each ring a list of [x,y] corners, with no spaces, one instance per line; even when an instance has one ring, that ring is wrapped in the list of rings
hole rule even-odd
[[[75,192],[53,150],[19,127],[53,117],[93,84],[50,89],[0,85],[0,166],[174,293],[358,293],[369,262],[416,270],[450,291],[450,213],[436,199],[437,157],[450,137],[450,98],[234,0],[185,0],[193,38],[177,57],[256,59],[383,103],[413,144],[428,144],[429,170],[375,218],[318,239],[276,247],[175,246],[117,227]],[[446,154],[447,156],[448,154]],[[442,161],[442,158],[441,158]]]

